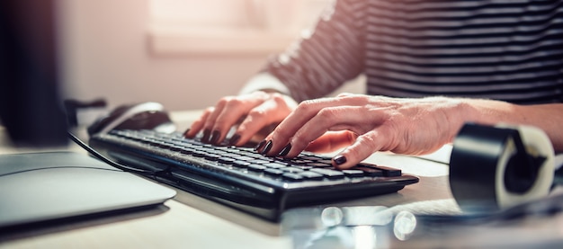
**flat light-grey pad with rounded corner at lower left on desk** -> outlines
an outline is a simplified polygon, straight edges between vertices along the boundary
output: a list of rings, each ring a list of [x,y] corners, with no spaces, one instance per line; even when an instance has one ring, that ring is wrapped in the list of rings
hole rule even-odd
[[[175,193],[75,152],[0,155],[0,228],[156,205]]]

